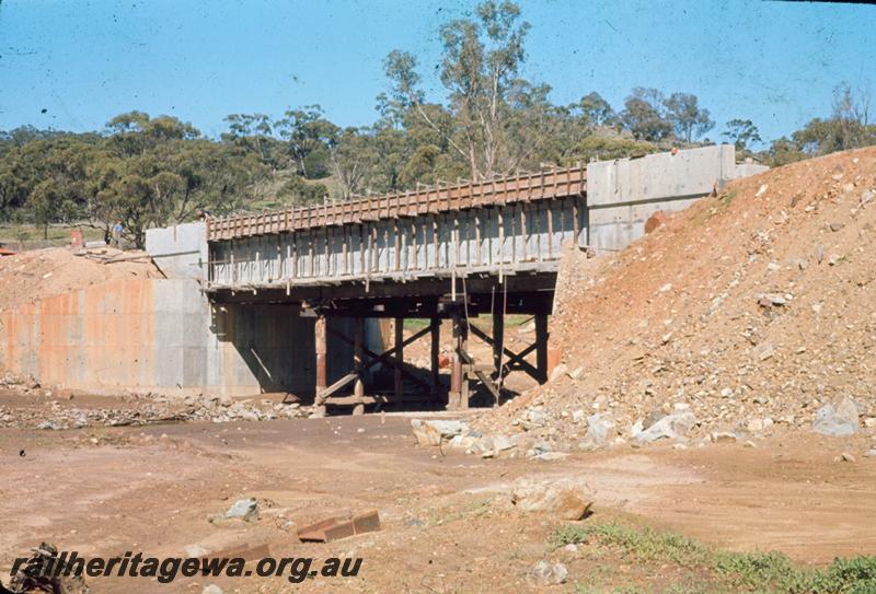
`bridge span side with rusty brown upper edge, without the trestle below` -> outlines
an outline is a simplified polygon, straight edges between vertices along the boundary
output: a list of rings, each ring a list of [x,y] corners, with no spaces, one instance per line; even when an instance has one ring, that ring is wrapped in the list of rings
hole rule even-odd
[[[576,166],[209,220],[209,289],[552,272],[585,193]]]

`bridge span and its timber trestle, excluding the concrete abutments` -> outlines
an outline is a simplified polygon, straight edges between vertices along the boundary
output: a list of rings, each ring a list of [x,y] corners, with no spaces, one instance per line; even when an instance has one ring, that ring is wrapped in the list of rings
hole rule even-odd
[[[353,386],[344,401],[360,405],[364,372],[377,362],[395,372],[395,398],[404,380],[423,384],[404,363],[404,347],[429,334],[431,381],[424,393],[441,397],[439,321],[452,322],[453,352],[448,404],[465,407],[472,376],[499,401],[502,377],[520,369],[546,380],[548,315],[562,246],[587,229],[586,167],[542,171],[480,183],[420,187],[264,214],[207,222],[207,290],[216,301],[298,301],[316,317],[316,399]],[[492,336],[469,324],[493,314]],[[507,313],[535,318],[535,342],[522,352],[504,346]],[[326,385],[326,316],[351,317],[349,373]],[[362,340],[362,319],[395,319],[394,343],[377,354]],[[408,317],[427,328],[404,339]],[[470,331],[487,340],[492,362],[469,353]],[[527,354],[535,351],[534,364]],[[370,359],[366,361],[366,359]],[[333,400],[333,401],[336,401]]]

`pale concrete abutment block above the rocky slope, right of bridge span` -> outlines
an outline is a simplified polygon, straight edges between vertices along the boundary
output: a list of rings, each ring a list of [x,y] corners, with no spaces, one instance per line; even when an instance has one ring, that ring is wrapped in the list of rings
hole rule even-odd
[[[645,221],[654,212],[685,209],[708,195],[716,183],[766,168],[737,165],[729,144],[590,163],[588,234],[581,241],[597,251],[623,249],[644,235]]]

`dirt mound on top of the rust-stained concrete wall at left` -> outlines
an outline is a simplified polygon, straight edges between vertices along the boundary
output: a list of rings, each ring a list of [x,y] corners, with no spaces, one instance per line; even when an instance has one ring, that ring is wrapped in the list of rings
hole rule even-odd
[[[143,252],[62,247],[0,257],[0,310],[124,278],[163,278]]]

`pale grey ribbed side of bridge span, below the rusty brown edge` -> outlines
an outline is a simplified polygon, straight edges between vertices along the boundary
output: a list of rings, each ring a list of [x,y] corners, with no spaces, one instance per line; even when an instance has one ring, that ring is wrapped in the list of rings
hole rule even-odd
[[[512,203],[210,243],[209,289],[554,272],[584,198]]]

